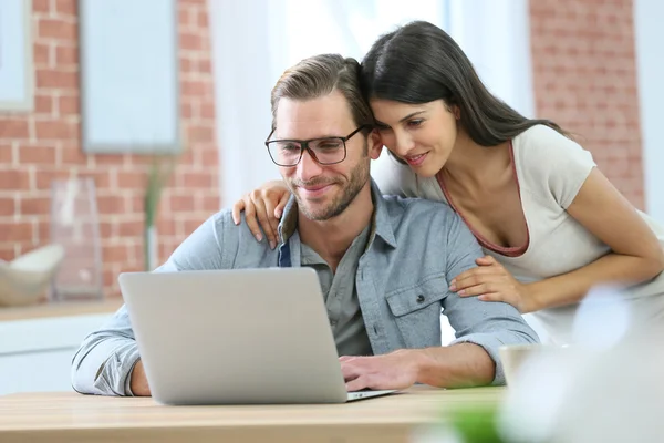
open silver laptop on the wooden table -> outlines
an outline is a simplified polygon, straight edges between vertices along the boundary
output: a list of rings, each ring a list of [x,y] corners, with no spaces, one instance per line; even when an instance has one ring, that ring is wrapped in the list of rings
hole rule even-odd
[[[159,403],[345,403],[395,392],[346,392],[313,269],[124,272],[118,282]]]

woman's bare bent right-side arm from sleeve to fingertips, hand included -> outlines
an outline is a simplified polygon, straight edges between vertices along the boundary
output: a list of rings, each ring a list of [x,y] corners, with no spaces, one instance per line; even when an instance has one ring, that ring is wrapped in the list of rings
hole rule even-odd
[[[478,268],[452,281],[450,290],[460,297],[505,301],[526,313],[577,302],[600,284],[636,285],[664,269],[657,237],[599,169],[590,172],[567,210],[612,251],[579,269],[532,284],[517,281],[492,257],[483,257],[477,260]]]

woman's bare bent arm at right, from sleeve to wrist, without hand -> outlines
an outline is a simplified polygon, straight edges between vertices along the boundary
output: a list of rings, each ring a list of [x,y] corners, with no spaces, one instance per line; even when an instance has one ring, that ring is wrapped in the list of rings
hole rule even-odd
[[[657,237],[598,168],[592,169],[567,210],[612,253],[571,272],[527,285],[535,310],[579,301],[598,284],[635,285],[664,270]]]

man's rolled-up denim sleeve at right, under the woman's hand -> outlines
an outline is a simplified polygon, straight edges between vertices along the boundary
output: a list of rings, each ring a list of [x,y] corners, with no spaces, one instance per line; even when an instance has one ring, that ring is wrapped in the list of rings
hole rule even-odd
[[[447,224],[447,281],[477,265],[483,256],[481,248],[470,229],[457,214],[452,214]],[[537,343],[539,338],[521,313],[511,305],[481,301],[477,297],[459,297],[456,292],[443,300],[443,313],[454,328],[456,339],[450,343],[480,346],[494,360],[496,372],[492,384],[505,384],[505,372],[499,349],[506,344]]]

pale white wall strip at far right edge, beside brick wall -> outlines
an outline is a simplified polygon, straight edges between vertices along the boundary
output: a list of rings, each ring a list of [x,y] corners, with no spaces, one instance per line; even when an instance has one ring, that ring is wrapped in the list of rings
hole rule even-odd
[[[634,2],[636,69],[643,135],[646,212],[664,223],[664,143],[658,133],[664,119],[664,2]]]

